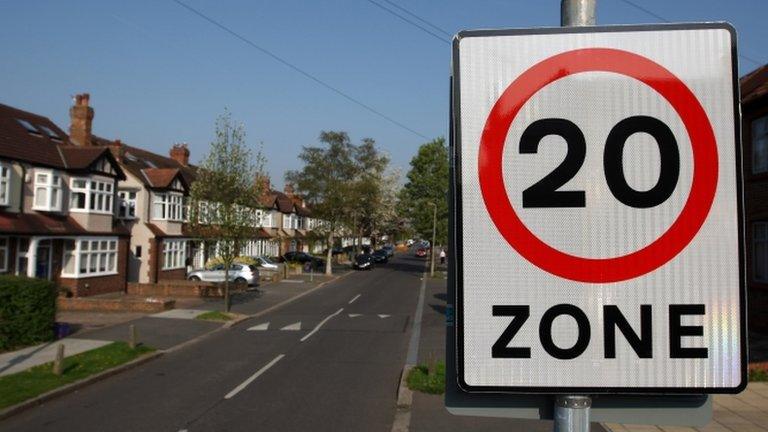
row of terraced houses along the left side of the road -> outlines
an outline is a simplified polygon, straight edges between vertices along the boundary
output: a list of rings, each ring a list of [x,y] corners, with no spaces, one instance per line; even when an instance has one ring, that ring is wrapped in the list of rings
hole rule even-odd
[[[187,227],[189,148],[163,156],[96,136],[94,115],[90,96],[77,95],[66,134],[0,105],[0,273],[53,279],[77,296],[184,279],[217,251]],[[308,251],[311,212],[290,185],[267,189],[248,209],[259,229],[241,255]]]

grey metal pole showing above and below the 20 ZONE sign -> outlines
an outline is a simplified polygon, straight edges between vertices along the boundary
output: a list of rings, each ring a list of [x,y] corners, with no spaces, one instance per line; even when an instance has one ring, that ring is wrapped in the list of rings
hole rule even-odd
[[[597,0],[562,0],[560,25],[582,27],[595,25]],[[555,432],[589,432],[589,408],[586,395],[560,395],[555,399]]]

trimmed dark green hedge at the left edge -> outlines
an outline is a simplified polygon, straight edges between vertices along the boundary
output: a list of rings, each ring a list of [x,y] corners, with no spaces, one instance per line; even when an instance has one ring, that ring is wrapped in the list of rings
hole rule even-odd
[[[53,282],[0,276],[0,351],[53,340],[57,295]]]

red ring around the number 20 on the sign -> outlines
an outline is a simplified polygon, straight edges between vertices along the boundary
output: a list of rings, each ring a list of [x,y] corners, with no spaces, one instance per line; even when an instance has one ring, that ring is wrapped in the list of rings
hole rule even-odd
[[[663,96],[680,116],[693,148],[691,191],[677,219],[658,239],[613,258],[584,258],[553,248],[520,220],[504,186],[502,158],[509,127],[523,105],[546,85],[582,72],[634,78]],[[610,48],[586,48],[549,57],[515,79],[491,109],[480,140],[478,175],[488,213],[507,242],[532,264],[579,282],[610,283],[649,273],[677,256],[698,233],[717,189],[717,146],[707,114],[691,90],[670,71],[643,56]]]

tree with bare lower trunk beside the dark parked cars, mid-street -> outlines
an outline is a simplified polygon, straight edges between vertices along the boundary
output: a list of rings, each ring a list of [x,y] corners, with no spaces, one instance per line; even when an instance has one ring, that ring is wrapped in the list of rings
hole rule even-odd
[[[303,147],[299,159],[304,167],[286,173],[286,181],[312,208],[312,215],[321,222],[315,228],[325,238],[325,274],[332,274],[333,240],[349,217],[348,200],[353,191],[357,169],[355,146],[346,132],[320,132],[322,146]]]

